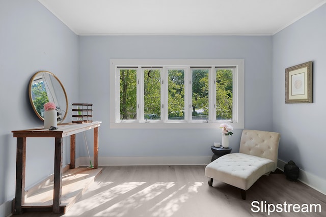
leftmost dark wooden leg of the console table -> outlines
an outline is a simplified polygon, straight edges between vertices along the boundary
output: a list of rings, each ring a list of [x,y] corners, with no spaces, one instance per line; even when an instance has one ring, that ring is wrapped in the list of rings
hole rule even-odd
[[[14,203],[14,214],[22,214],[21,205],[25,203],[25,162],[26,137],[17,137],[16,197]]]

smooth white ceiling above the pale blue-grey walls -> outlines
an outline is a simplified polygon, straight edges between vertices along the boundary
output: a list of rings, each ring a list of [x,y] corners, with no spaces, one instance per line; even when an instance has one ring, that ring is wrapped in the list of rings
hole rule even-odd
[[[77,35],[274,35],[326,0],[39,0]]]

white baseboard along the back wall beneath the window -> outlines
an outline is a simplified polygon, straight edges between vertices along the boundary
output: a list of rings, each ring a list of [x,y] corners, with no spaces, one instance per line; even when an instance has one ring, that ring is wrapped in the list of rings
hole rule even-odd
[[[201,157],[99,157],[101,166],[140,166],[140,165],[207,165],[211,156]],[[93,158],[91,158],[93,162]],[[77,164],[78,162],[78,164]],[[87,157],[76,160],[76,166],[90,166]]]

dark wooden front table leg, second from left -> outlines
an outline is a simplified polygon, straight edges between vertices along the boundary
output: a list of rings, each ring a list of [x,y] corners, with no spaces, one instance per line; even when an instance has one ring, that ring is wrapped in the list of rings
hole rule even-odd
[[[62,190],[62,150],[63,138],[55,141],[55,175],[53,179],[53,213],[60,213],[61,190]]]

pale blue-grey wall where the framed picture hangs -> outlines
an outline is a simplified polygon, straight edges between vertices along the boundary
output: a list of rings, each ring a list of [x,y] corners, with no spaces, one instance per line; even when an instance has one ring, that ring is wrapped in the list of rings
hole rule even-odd
[[[281,133],[279,159],[326,183],[326,5],[273,36],[273,126]],[[313,61],[313,103],[285,104],[285,69]],[[326,187],[324,187],[326,190]]]

